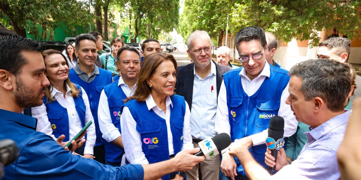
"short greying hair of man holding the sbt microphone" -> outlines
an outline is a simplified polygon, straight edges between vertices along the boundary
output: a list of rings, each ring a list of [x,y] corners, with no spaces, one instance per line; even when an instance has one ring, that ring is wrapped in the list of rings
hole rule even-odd
[[[333,112],[342,111],[354,83],[351,64],[327,58],[310,59],[290,69],[288,75],[301,78],[300,90],[309,101],[320,97]]]

